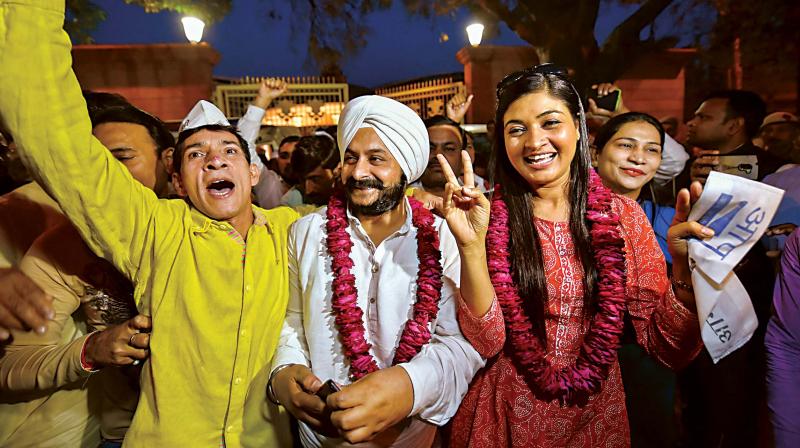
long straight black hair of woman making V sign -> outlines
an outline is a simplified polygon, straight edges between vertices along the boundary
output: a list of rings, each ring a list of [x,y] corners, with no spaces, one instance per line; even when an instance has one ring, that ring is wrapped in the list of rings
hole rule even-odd
[[[531,186],[514,169],[506,152],[503,117],[511,104],[531,93],[547,93],[564,103],[572,114],[580,132],[575,156],[570,164],[570,180],[565,194],[570,203],[569,229],[583,267],[583,295],[585,310],[594,307],[596,267],[592,257],[589,229],[586,223],[586,201],[589,186],[591,159],[589,138],[583,105],[577,90],[567,79],[563,70],[544,64],[506,76],[497,87],[497,111],[494,149],[489,170],[492,185],[502,186],[503,198],[508,207],[508,227],[511,238],[509,254],[514,280],[525,312],[533,325],[536,336],[544,343],[545,311],[547,306],[547,275],[542,258],[542,245],[534,223]],[[488,248],[491,250],[491,248]]]

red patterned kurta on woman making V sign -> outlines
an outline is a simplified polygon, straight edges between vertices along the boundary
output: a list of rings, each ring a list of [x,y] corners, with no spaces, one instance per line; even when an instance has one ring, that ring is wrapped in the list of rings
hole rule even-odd
[[[616,196],[625,237],[627,312],[636,336],[666,366],[680,368],[701,347],[697,315],[672,292],[653,230],[639,205]],[[547,272],[547,357],[555,367],[575,363],[588,321],[583,270],[565,222],[536,219]],[[454,447],[625,447],[630,445],[625,392],[614,363],[602,390],[585,407],[538,400],[504,353],[505,325],[497,300],[483,317],[459,309],[461,331],[489,362],[472,381],[453,420]]]

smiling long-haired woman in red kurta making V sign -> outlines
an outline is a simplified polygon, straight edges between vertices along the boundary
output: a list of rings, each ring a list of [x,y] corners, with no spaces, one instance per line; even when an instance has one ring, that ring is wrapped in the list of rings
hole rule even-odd
[[[623,316],[638,342],[669,367],[680,368],[701,348],[685,243],[711,236],[687,222],[699,185],[679,195],[668,236],[675,261],[670,281],[641,207],[608,191],[591,172],[583,108],[565,74],[551,65],[512,73],[497,96],[493,166],[502,198],[490,205],[472,188],[468,156],[463,186],[439,160],[449,180],[442,214],[461,255],[461,330],[488,359],[452,421],[450,444],[630,446],[616,356]],[[506,223],[497,224],[506,219],[496,219],[498,210]],[[489,244],[487,229],[494,235]],[[504,239],[498,229],[506,248],[498,246]],[[609,256],[609,250],[616,252]],[[498,269],[504,259],[507,271]],[[530,327],[520,325],[520,316]],[[531,348],[531,340],[541,349]],[[537,367],[542,358],[552,369]]]

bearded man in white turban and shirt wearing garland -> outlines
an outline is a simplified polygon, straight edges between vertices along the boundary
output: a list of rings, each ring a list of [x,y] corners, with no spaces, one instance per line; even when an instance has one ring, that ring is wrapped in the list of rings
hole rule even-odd
[[[428,134],[408,107],[366,96],[345,107],[338,139],[343,191],[290,229],[268,396],[306,447],[430,446],[484,360],[456,321],[453,236],[403,195]]]

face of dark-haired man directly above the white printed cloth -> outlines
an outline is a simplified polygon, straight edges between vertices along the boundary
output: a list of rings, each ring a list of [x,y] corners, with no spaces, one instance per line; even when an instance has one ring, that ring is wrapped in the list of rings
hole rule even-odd
[[[726,119],[728,100],[711,98],[703,101],[694,117],[686,123],[686,141],[702,149],[718,149],[744,126],[744,119]]]

